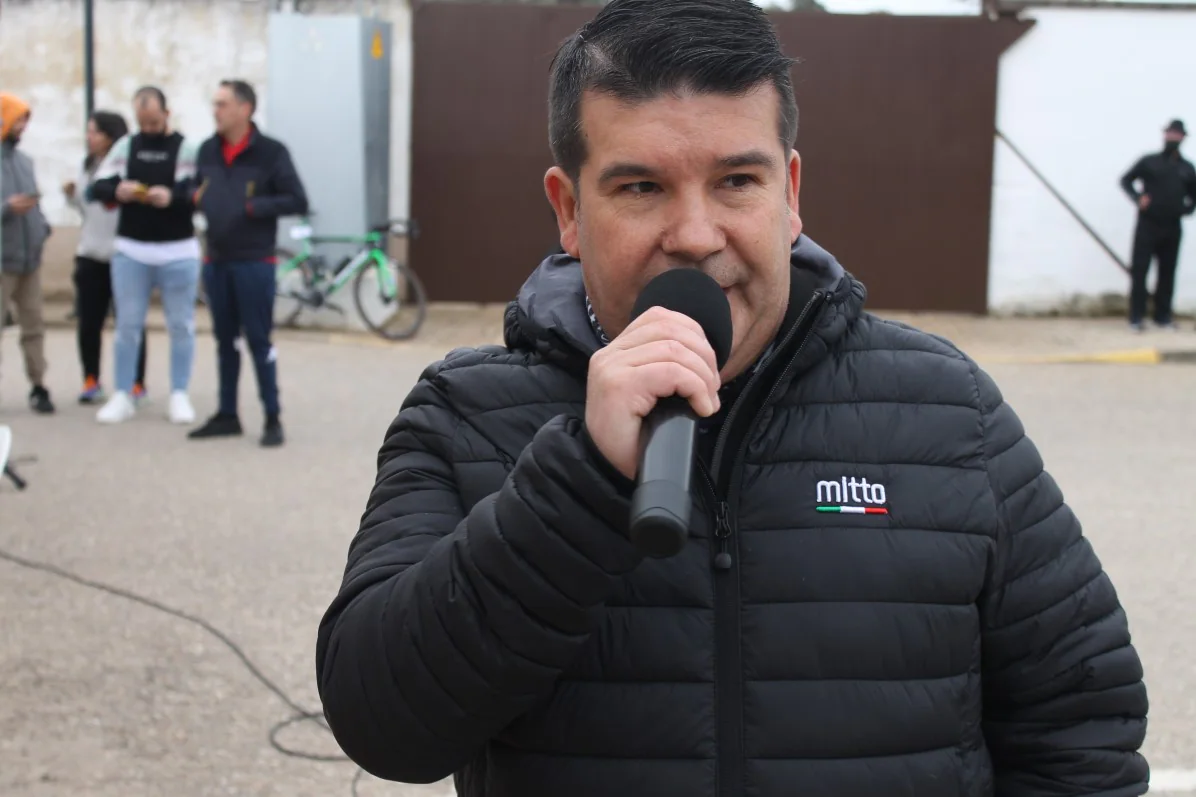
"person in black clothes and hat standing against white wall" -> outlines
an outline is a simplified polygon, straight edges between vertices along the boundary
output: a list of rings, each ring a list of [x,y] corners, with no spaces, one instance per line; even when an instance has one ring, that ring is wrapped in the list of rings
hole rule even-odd
[[[1130,266],[1129,323],[1137,331],[1146,320],[1146,276],[1151,261],[1159,263],[1154,287],[1154,323],[1174,329],[1171,300],[1179,261],[1180,219],[1196,211],[1196,169],[1179,154],[1188,136],[1174,120],[1163,132],[1163,152],[1145,156],[1125,172],[1122,188],[1137,205],[1134,255]],[[1136,183],[1142,183],[1142,190]]]

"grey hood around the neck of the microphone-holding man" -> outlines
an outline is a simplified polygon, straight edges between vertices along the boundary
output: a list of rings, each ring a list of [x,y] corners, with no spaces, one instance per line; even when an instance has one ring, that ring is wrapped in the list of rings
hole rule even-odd
[[[825,249],[801,235],[791,250],[789,263],[830,293],[832,305],[840,310],[836,318],[850,321],[859,315],[866,296],[864,285]],[[578,354],[588,359],[602,347],[586,312],[579,260],[553,255],[532,272],[519,298],[507,305],[504,339],[509,348],[532,349],[556,361]]]

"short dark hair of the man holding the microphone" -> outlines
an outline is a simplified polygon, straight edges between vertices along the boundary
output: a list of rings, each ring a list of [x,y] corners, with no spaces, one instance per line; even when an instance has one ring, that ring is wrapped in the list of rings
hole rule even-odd
[[[751,0],[612,0],[553,59],[548,140],[576,182],[586,159],[586,91],[640,102],[670,92],[745,95],[769,81],[780,95],[779,136],[798,136],[798,104],[776,31]]]

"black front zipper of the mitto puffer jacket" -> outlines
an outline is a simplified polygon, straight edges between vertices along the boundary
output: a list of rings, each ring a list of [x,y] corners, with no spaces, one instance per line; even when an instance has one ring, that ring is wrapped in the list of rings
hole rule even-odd
[[[762,378],[765,367],[761,367],[748,381],[739,398],[727,413],[727,419],[719,431],[719,439],[714,445],[714,474],[707,471],[701,464],[701,473],[706,485],[710,491],[714,505],[714,711],[718,740],[718,761],[715,772],[718,778],[718,797],[740,797],[743,795],[743,661],[739,646],[739,565],[736,561],[737,539],[734,536],[734,512],[739,494],[738,475],[743,464],[744,454],[748,450],[748,442],[751,439],[752,430],[759,420],[763,409],[773,400],[777,387],[788,377],[793,370],[801,349],[805,348],[810,335],[813,333],[813,323],[806,323],[811,311],[820,306],[830,297],[822,291],[816,292],[806,306],[803,308],[793,329],[785,336],[779,352],[783,352],[794,336],[804,327],[805,336],[798,348],[789,357],[781,376],[773,383],[773,389],[768,397],[759,406],[761,412],[752,418],[743,436],[734,458],[731,461],[728,477],[720,482],[719,476],[724,474],[722,458],[725,448],[731,434],[732,422],[739,409],[750,396],[756,382]],[[724,492],[719,491],[724,487]]]

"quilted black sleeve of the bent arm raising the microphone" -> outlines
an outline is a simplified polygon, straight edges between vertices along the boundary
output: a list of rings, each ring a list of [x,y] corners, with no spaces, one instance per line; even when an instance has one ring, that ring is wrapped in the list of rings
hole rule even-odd
[[[426,375],[388,431],[319,627],[324,714],[384,779],[445,778],[543,700],[586,641],[590,609],[640,562],[621,531],[626,483],[579,420],[544,425],[468,512],[452,467],[463,422]]]

